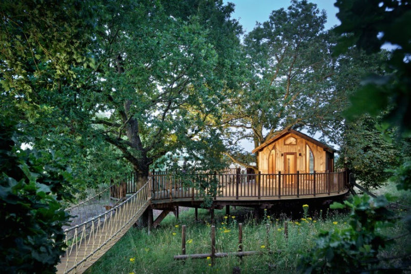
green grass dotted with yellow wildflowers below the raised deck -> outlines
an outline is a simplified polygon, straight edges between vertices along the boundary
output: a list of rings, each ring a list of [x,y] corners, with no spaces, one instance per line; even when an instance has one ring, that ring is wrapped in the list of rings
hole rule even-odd
[[[394,191],[387,185],[379,190],[380,194]],[[399,202],[409,205],[409,200],[399,194]],[[395,211],[404,215],[402,209]],[[260,250],[262,255],[243,258],[242,262],[236,257],[217,258],[212,267],[211,260],[186,260],[175,261],[173,255],[181,254],[181,226],[186,225],[186,253],[209,253],[210,242],[210,216],[208,210],[199,209],[198,222],[194,221],[194,209],[180,213],[177,220],[174,215],[168,215],[158,229],[148,235],[146,229],[132,228],[123,238],[112,247],[87,273],[228,273],[234,266],[239,266],[245,273],[289,273],[297,272],[296,261],[301,252],[307,252],[314,244],[313,239],[321,230],[333,228],[344,229],[348,227],[348,215],[337,211],[330,211],[325,218],[307,216],[305,220],[289,220],[286,216],[274,217],[265,211],[264,220],[255,224],[250,214],[245,214],[245,209],[232,210],[232,216],[225,218],[225,210],[215,211],[216,226],[216,252],[236,251],[238,245],[238,222],[243,225],[243,246],[245,251]],[[319,215],[319,214],[316,214]],[[288,223],[288,239],[284,236],[284,222]],[[266,239],[266,226],[270,224],[269,239]],[[395,236],[404,233],[404,224],[387,228],[384,234]],[[384,254],[394,256],[408,248],[409,236],[402,238],[397,244],[388,247]],[[281,250],[269,254],[271,250]]]

